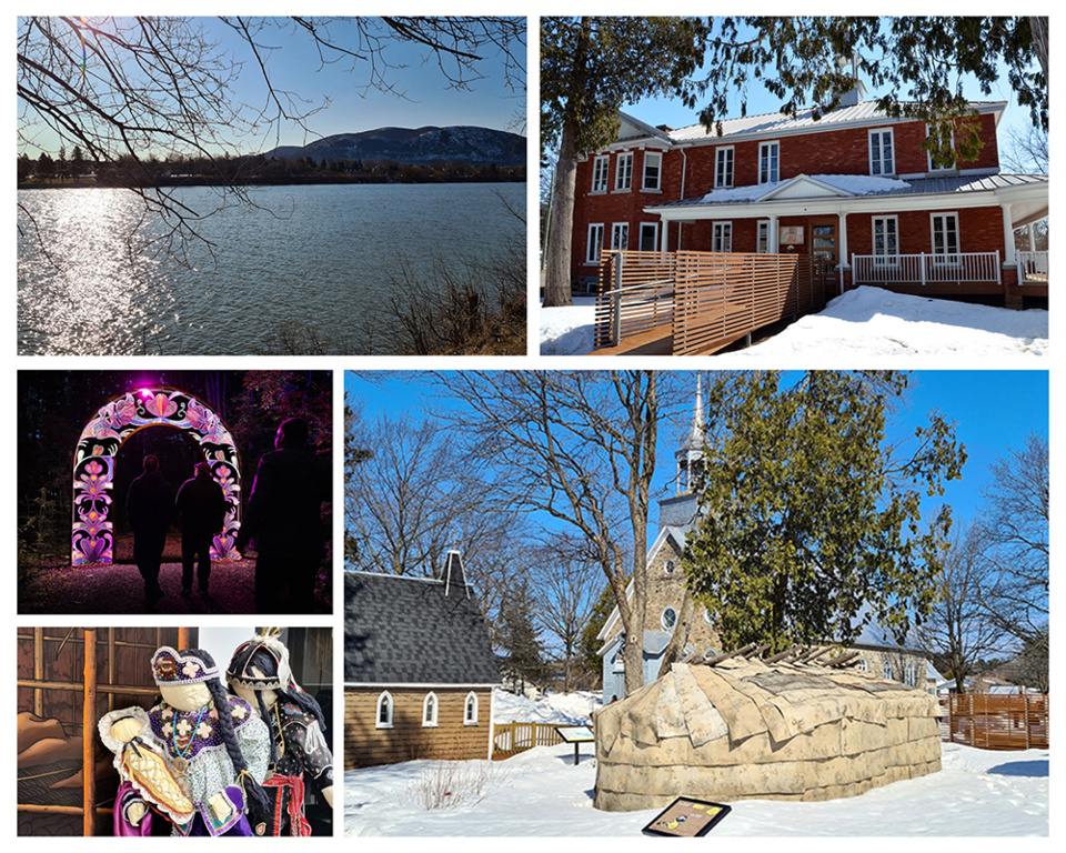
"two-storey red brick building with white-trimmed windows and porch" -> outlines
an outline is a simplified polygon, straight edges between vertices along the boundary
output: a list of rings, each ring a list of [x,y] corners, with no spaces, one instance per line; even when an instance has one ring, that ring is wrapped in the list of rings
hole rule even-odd
[[[999,171],[1006,103],[973,103],[977,159],[938,169],[925,122],[889,119],[864,94],[857,84],[819,120],[726,120],[721,136],[623,113],[617,139],[579,163],[574,277],[594,275],[604,249],[801,252],[831,262],[834,289],[964,282],[1016,302],[1020,263],[1022,279],[1039,267],[1026,292],[1046,295],[1046,253],[1019,259],[1014,231],[1047,217],[1048,180]]]

